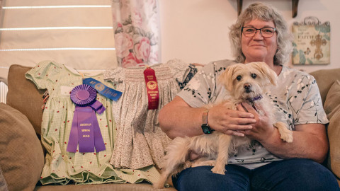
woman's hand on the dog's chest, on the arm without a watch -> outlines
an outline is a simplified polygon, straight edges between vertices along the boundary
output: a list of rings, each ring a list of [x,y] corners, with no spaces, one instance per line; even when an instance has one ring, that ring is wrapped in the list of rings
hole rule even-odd
[[[245,130],[244,134],[246,137],[249,137],[249,139],[254,139],[261,142],[262,140],[271,137],[271,134],[273,134],[275,131],[275,127],[273,127],[273,122],[269,120],[268,113],[264,111],[263,108],[261,108],[261,105],[255,104],[254,106],[256,109],[248,103],[242,103],[242,105],[237,106],[237,109],[240,111],[250,112],[254,115],[256,122],[249,124],[253,128],[250,130]],[[259,115],[257,110],[263,111],[264,115]]]

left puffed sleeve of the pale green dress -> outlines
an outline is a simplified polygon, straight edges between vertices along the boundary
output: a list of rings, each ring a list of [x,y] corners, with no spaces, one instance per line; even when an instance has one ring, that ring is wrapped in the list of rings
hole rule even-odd
[[[26,79],[33,81],[38,89],[46,89],[51,83],[56,83],[60,77],[60,64],[51,61],[39,62],[26,72]]]

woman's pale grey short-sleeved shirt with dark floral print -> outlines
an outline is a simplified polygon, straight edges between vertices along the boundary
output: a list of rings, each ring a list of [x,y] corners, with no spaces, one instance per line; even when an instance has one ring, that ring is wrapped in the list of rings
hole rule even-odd
[[[231,64],[236,63],[222,60],[207,64],[178,96],[193,108],[223,100],[227,91],[216,84],[216,79]],[[286,122],[290,130],[294,130],[295,125],[299,124],[328,123],[319,88],[314,77],[309,74],[283,66],[278,76],[278,86],[271,87],[268,96],[277,109],[276,120]],[[239,150],[237,155],[231,156],[228,163],[256,168],[278,160],[281,159],[269,153],[258,141],[252,141],[249,148]]]

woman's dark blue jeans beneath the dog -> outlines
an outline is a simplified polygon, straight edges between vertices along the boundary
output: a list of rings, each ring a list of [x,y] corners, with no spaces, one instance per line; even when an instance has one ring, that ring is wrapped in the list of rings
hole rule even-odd
[[[225,175],[211,166],[187,168],[173,177],[177,190],[340,190],[330,170],[309,159],[274,161],[254,170],[227,165]]]

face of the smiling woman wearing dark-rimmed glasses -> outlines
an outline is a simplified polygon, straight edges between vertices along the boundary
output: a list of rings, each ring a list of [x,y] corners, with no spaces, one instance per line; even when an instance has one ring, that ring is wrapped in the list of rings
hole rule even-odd
[[[248,23],[244,23],[244,27],[275,28],[273,21],[261,21],[259,19],[252,20]],[[245,63],[248,62],[266,62],[267,64],[273,64],[274,55],[278,49],[278,43],[276,41],[276,33],[272,37],[263,37],[259,30],[253,37],[246,37],[242,33],[241,45],[242,52],[246,57]]]

